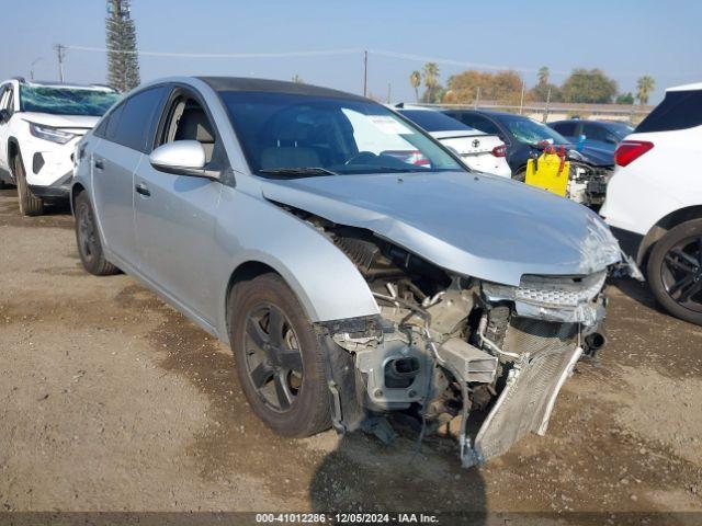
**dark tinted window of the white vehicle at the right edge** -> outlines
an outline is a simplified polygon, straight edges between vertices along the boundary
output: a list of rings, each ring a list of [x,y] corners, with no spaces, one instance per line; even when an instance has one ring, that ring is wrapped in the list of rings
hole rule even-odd
[[[671,132],[702,125],[702,90],[669,91],[634,133]]]

